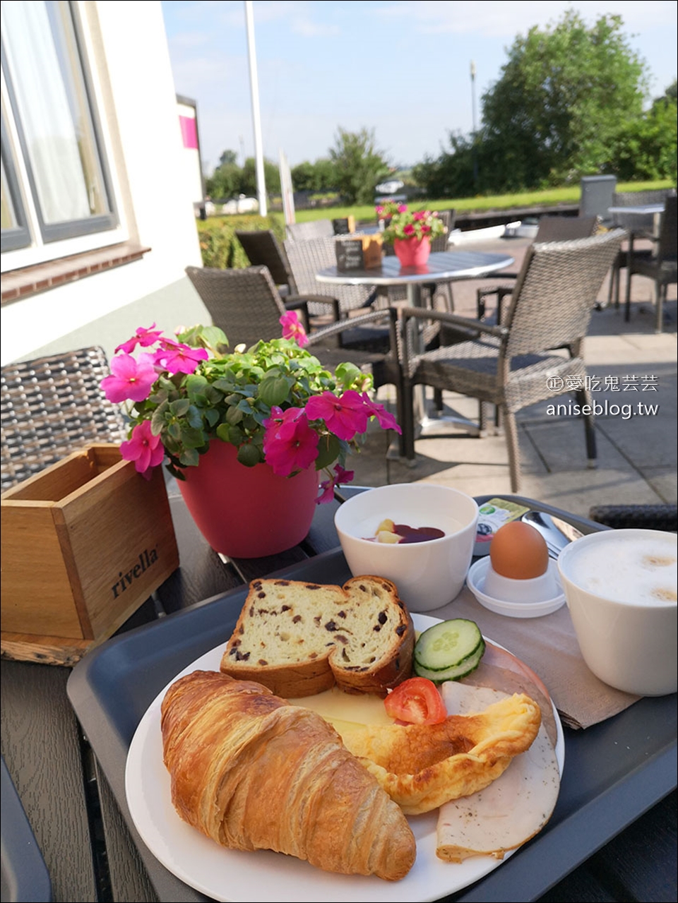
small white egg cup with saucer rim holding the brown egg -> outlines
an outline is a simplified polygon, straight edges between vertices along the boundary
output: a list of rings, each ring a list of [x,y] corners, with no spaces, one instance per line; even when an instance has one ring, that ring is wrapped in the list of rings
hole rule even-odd
[[[489,595],[486,591],[491,566],[489,558],[480,558],[471,565],[466,578],[469,590],[484,608],[494,611],[497,615],[506,615],[508,618],[543,618],[544,615],[550,615],[562,607],[565,594],[558,582],[556,563],[552,559],[549,559],[547,573],[542,577],[535,577],[534,580],[511,580],[508,577],[501,577],[493,571],[492,575],[495,578],[493,591],[504,591],[500,598]],[[520,584],[523,584],[522,588]],[[538,590],[539,587],[542,588],[545,595],[533,594],[534,590]],[[522,600],[521,590],[523,592]],[[531,594],[533,601],[526,600]],[[512,597],[511,599],[506,598],[509,595]]]

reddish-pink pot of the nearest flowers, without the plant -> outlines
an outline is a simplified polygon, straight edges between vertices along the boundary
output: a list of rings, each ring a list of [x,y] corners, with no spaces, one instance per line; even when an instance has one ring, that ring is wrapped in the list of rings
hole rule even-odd
[[[291,549],[309,532],[319,482],[313,467],[279,477],[268,464],[245,467],[234,445],[213,439],[198,467],[183,473],[183,500],[215,552],[261,558]]]

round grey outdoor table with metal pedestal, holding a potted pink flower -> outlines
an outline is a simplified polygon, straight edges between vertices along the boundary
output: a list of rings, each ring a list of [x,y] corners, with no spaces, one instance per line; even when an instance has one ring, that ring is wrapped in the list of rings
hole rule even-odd
[[[396,256],[382,257],[380,267],[369,269],[339,270],[329,266],[316,274],[320,283],[332,285],[404,285],[407,303],[410,307],[422,307],[422,288],[433,283],[450,283],[461,279],[478,279],[489,273],[506,269],[514,263],[507,254],[492,254],[487,251],[440,251],[429,256],[423,266],[401,266]],[[425,386],[415,386],[413,393],[415,429],[418,436],[441,433],[444,427],[461,430],[478,436],[480,428],[467,417],[451,412],[444,416],[431,416],[426,410]],[[388,457],[400,459],[400,447],[394,442],[388,450]],[[408,461],[413,467],[415,461]]]

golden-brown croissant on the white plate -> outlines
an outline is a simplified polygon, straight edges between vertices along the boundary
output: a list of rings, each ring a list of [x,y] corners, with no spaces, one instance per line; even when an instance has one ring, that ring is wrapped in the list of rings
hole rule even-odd
[[[385,880],[412,868],[403,812],[316,712],[195,671],[165,694],[162,730],[172,803],[212,840]]]

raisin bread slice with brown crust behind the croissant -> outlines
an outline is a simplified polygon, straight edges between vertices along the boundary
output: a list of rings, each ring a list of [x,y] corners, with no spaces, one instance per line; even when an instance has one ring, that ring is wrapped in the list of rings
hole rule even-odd
[[[255,580],[221,671],[286,698],[334,684],[385,696],[412,674],[413,647],[412,618],[382,577],[354,577],[343,587]]]

